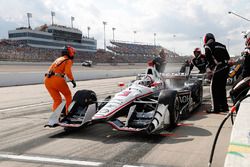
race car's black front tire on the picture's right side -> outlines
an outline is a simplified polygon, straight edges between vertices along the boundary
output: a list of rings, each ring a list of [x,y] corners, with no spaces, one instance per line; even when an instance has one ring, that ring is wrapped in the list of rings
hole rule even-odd
[[[168,128],[175,128],[180,120],[179,100],[177,91],[175,90],[163,90],[159,95],[159,104],[168,104],[168,110],[170,114],[170,126]]]

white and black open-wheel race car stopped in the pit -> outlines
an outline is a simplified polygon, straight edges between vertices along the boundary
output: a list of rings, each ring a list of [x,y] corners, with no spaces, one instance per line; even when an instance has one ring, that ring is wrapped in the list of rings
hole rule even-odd
[[[175,86],[174,86],[175,85]],[[107,123],[120,131],[159,133],[177,126],[202,102],[202,81],[185,75],[160,75],[154,67],[137,77],[111,98],[98,101],[91,90],[77,91],[64,115],[64,104],[52,114],[47,126],[65,129]]]

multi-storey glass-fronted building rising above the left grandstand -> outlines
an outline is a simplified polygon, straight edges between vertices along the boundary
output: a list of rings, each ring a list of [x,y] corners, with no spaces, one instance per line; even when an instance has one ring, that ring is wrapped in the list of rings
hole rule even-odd
[[[30,47],[61,49],[70,45],[78,51],[96,52],[97,41],[82,36],[82,31],[62,25],[42,25],[35,29],[20,27],[9,30],[9,39],[21,41]]]

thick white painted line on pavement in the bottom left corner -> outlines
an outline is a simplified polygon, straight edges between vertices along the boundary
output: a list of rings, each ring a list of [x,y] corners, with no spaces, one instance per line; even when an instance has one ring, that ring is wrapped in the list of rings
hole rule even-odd
[[[39,161],[39,162],[52,162],[61,164],[72,164],[72,165],[84,165],[84,166],[100,166],[101,162],[91,161],[77,161],[70,159],[59,159],[59,158],[46,158],[39,156],[25,156],[25,155],[14,155],[14,154],[0,154],[0,158],[26,160],[26,161]]]

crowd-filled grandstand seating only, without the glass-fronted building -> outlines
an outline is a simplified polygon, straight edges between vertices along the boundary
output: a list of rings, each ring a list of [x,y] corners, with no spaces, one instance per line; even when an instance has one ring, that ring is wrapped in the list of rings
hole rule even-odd
[[[115,42],[116,43],[116,42]],[[114,45],[114,44],[113,44]],[[120,47],[119,47],[120,46]],[[122,51],[121,48],[127,48],[127,51]],[[115,46],[112,47],[112,49]],[[77,51],[75,62],[82,62],[84,60],[92,60],[97,63],[109,63],[116,65],[117,63],[146,63],[152,60],[155,55],[158,55],[161,46],[152,45],[139,45],[139,44],[124,44],[118,42],[116,45],[121,49],[119,52],[105,51],[98,49],[96,52]],[[130,51],[131,50],[131,51]],[[166,50],[168,54],[167,61],[171,62],[184,62],[185,59],[189,59],[183,56],[175,56],[175,54],[169,50]],[[51,62],[61,55],[61,49],[51,48],[36,48],[27,45],[23,41],[13,41],[8,39],[2,39],[0,41],[0,61],[25,61],[25,62]]]

